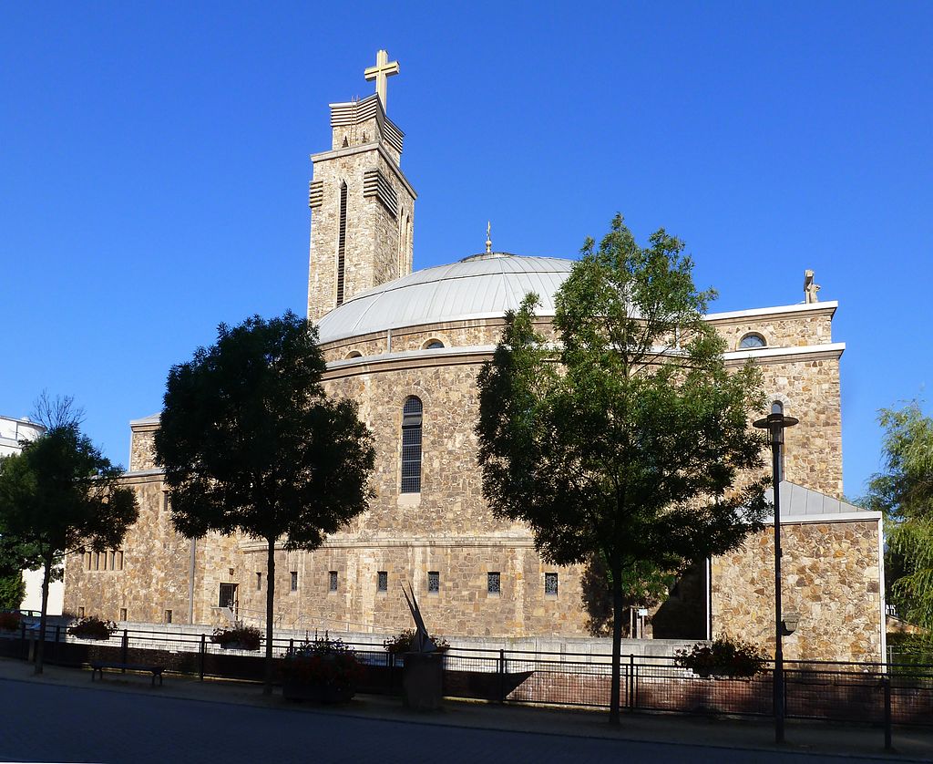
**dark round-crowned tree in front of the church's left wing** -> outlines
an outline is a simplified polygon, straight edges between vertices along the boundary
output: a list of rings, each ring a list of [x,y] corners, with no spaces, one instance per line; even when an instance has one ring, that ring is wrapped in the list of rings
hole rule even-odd
[[[216,345],[172,368],[155,438],[178,531],[266,542],[266,694],[275,545],[316,549],[371,495],[371,436],[355,402],[327,398],[325,369],[316,328],[291,312],[221,324]]]

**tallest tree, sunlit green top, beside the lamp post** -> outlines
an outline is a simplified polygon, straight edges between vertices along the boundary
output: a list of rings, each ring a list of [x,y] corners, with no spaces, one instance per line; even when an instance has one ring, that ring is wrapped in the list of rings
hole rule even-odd
[[[536,295],[507,316],[479,376],[479,461],[494,515],[521,520],[544,559],[606,560],[612,586],[610,720],[619,722],[624,582],[675,571],[759,528],[764,406],[759,372],[728,372],[703,320],[683,244],[639,247],[621,216],[588,240],[555,296],[555,347],[536,332]]]

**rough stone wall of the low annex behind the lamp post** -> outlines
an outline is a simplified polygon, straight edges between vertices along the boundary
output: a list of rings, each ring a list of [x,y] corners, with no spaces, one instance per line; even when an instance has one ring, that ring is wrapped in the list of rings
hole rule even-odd
[[[800,614],[784,641],[791,660],[882,659],[878,522],[782,524],[783,612]],[[712,563],[715,635],[774,651],[773,532]]]

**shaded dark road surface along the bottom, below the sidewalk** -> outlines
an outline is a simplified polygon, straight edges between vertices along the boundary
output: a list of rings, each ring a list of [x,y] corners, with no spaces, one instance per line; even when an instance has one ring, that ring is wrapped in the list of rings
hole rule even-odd
[[[465,729],[0,680],[0,759],[118,762],[820,762],[837,757]],[[850,762],[871,758],[848,758]]]

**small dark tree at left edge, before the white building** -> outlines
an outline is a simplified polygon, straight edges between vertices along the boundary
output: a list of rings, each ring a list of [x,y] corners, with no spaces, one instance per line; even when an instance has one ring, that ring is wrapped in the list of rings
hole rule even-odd
[[[40,633],[58,560],[81,549],[119,546],[135,522],[136,496],[120,486],[122,472],[77,421],[67,419],[25,443],[20,454],[0,460],[0,543],[19,567],[42,568]],[[43,644],[40,639],[36,673],[42,672]]]

